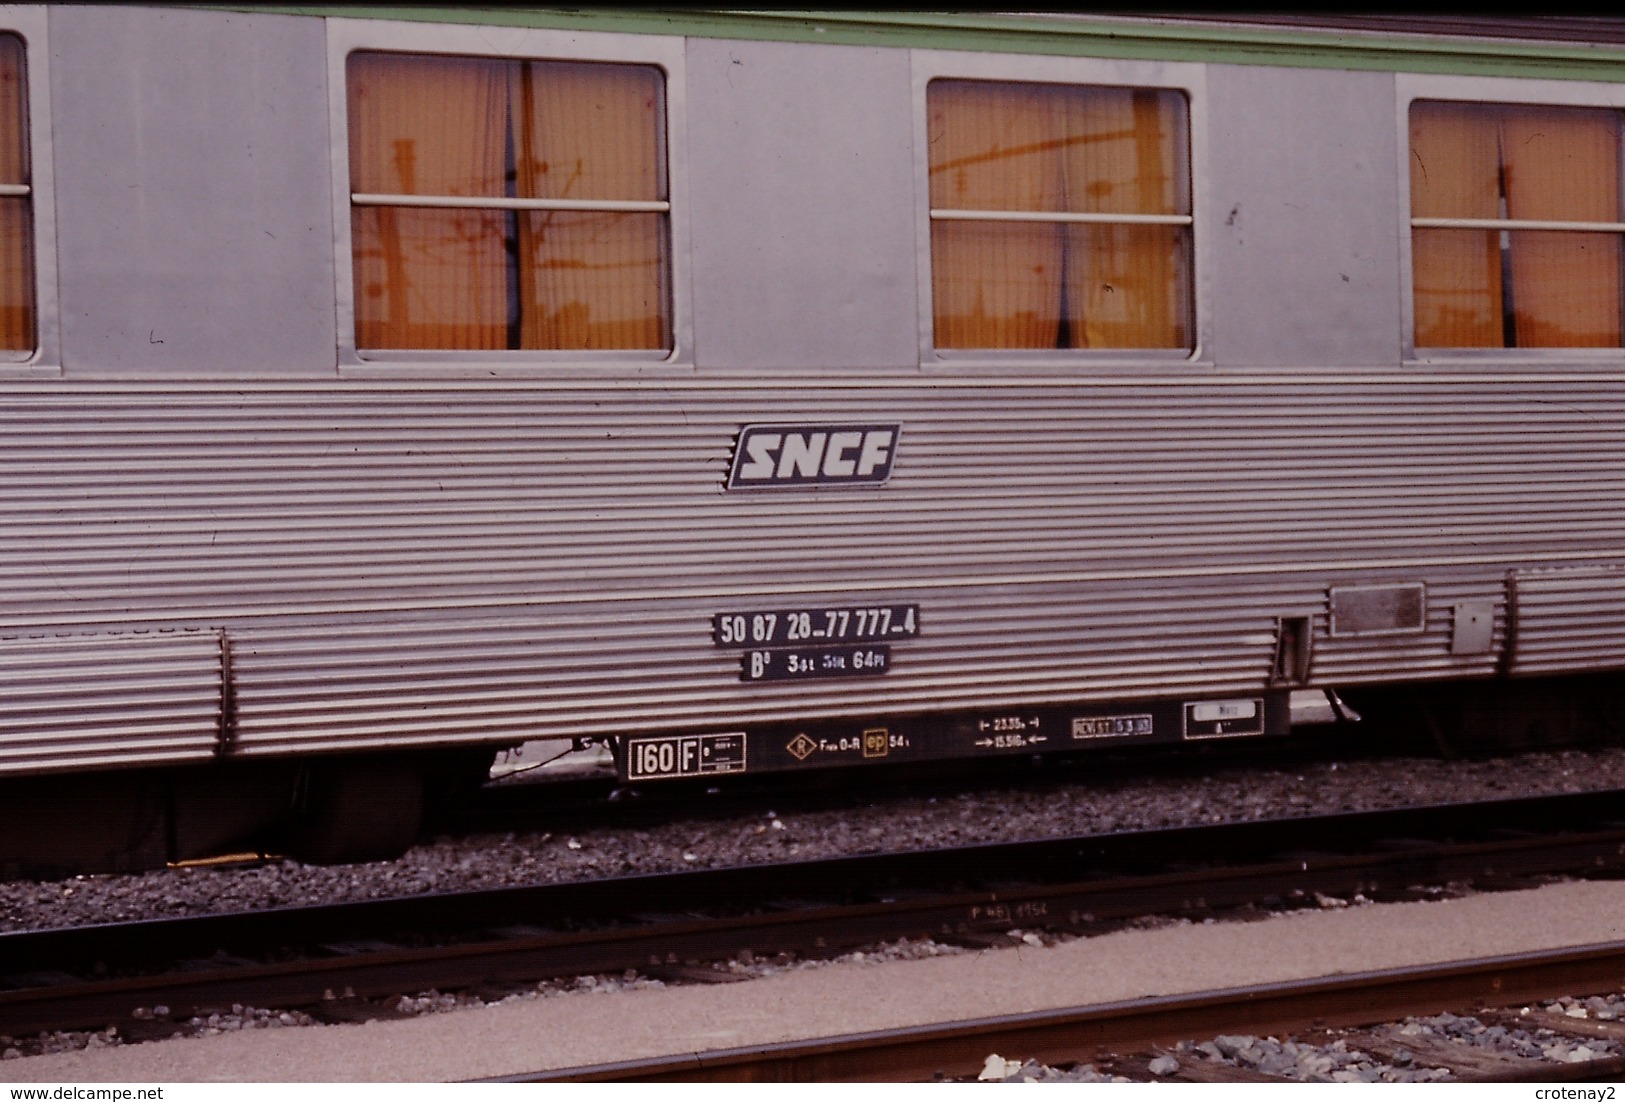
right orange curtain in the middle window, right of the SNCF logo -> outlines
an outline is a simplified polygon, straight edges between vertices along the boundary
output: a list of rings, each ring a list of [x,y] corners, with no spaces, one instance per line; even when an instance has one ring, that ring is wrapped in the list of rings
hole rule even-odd
[[[1173,98],[1128,88],[1069,91],[1061,169],[1066,210],[1188,213],[1176,172],[1183,127]],[[1074,224],[1066,254],[1072,348],[1180,348],[1190,343],[1181,226]]]

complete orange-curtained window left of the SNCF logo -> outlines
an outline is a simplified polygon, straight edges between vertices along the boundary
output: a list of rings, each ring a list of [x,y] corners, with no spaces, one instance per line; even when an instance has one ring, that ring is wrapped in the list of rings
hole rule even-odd
[[[353,54],[356,345],[671,346],[650,65]]]

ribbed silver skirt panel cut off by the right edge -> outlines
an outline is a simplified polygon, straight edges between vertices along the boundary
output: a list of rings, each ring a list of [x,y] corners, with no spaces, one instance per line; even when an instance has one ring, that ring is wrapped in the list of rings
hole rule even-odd
[[[1513,601],[1513,673],[1625,666],[1625,569],[1519,571]]]

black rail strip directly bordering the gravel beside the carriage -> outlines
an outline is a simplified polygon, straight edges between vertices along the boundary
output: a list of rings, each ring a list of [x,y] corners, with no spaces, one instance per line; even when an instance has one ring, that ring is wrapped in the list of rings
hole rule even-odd
[[[1477,803],[1155,827],[938,850],[868,853],[471,892],[422,894],[0,933],[0,977],[83,961],[252,951],[266,943],[343,941],[426,926],[483,928],[570,917],[604,920],[775,899],[852,899],[861,892],[954,883],[1100,883],[1170,865],[1258,863],[1290,852],[1358,853],[1394,839],[1482,839],[1497,832],[1589,831],[1625,824],[1625,792],[1599,790]]]

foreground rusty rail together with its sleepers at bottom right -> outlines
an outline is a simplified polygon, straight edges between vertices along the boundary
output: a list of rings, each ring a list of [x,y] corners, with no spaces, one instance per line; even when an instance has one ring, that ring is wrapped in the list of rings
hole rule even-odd
[[[564,1068],[509,1082],[837,1082],[977,1078],[990,1053],[1042,1065],[1090,1063],[1139,1079],[1285,1082],[1284,1076],[1204,1058],[1178,1042],[1237,1034],[1316,1034],[1375,1058],[1443,1068],[1476,1082],[1625,1081],[1625,1056],[1575,1063],[1510,1058],[1466,1045],[1373,1029],[1407,1016],[1462,1008],[1503,1009],[1490,1021],[1545,1029],[1576,1040],[1622,1040],[1625,1024],[1511,1009],[1524,1000],[1625,988],[1625,941],[1580,949],[1339,975],[1201,995],[1009,1014],[842,1037]],[[1240,1048],[1232,1043],[1232,1048]],[[1404,1056],[1401,1056],[1404,1050]],[[1172,1061],[1152,1069],[1157,1060]]]

